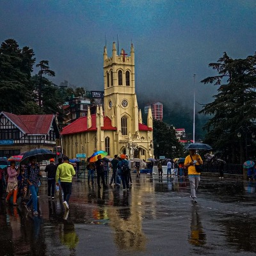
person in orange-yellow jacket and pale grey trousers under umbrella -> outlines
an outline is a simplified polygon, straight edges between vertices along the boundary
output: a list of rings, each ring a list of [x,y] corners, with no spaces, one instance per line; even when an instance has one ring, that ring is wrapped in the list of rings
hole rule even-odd
[[[195,149],[189,149],[189,155],[185,158],[184,166],[188,168],[188,178],[190,182],[190,198],[193,202],[196,200],[196,189],[200,182],[200,173],[196,172],[195,165],[203,164],[200,155],[196,154]]]

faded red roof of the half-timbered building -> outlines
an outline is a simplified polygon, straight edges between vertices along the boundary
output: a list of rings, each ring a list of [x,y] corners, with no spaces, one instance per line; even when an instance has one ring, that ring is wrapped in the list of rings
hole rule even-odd
[[[14,115],[2,112],[26,134],[47,134],[54,115]]]

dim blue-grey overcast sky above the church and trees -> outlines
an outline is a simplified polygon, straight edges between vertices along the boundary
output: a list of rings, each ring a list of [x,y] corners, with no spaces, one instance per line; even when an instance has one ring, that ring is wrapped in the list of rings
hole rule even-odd
[[[156,101],[212,101],[208,67],[226,51],[246,58],[256,47],[255,0],[0,0],[0,41],[15,39],[35,52],[36,63],[49,60],[51,81],[103,90],[103,48],[108,55],[134,44],[136,92]],[[37,71],[37,70],[35,70]],[[140,100],[140,99],[138,99]]]

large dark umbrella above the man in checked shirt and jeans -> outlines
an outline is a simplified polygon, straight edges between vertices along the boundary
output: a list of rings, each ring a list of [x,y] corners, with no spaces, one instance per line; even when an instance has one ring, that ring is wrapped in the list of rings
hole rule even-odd
[[[42,162],[45,160],[49,160],[51,158],[55,158],[56,154],[52,153],[50,150],[45,149],[45,148],[36,148],[33,150],[30,150],[26,152],[21,161],[20,164],[28,164],[29,163],[29,157],[35,156],[36,157],[36,162]]]

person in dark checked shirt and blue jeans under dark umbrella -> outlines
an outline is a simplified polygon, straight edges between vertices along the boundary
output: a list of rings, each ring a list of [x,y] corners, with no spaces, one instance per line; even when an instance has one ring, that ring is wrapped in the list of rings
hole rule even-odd
[[[29,157],[30,164],[28,164],[25,168],[25,178],[29,186],[29,191],[31,193],[31,197],[26,204],[26,209],[28,212],[31,212],[30,206],[33,204],[33,214],[38,215],[37,211],[37,194],[38,194],[38,186],[40,182],[40,177],[42,175],[38,164],[36,164],[35,156]]]

